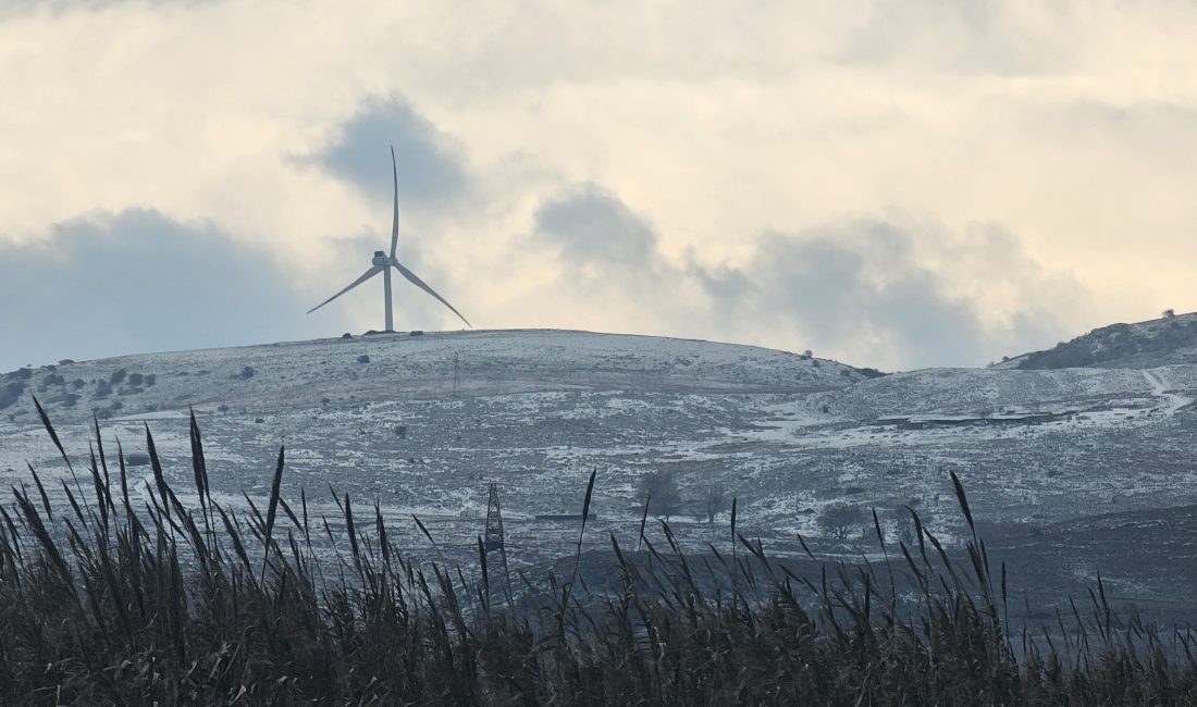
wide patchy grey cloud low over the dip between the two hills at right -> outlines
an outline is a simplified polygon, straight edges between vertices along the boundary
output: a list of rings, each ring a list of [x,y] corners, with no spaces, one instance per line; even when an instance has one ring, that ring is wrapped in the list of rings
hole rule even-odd
[[[767,331],[771,322],[827,355],[891,368],[984,365],[1045,346],[1082,299],[1080,285],[1043,272],[996,226],[948,233],[851,219],[767,234],[734,268],[692,269],[725,317],[717,324]]]

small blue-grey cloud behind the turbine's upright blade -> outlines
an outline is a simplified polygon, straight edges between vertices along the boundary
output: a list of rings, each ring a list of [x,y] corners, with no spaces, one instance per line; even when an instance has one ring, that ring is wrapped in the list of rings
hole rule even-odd
[[[435,206],[469,185],[463,150],[397,96],[371,98],[340,126],[333,141],[305,158],[378,199],[391,199],[395,146],[400,208]]]

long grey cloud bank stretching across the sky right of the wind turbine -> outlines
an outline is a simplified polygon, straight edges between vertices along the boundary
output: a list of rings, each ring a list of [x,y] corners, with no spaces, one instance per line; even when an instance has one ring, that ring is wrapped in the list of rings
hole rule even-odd
[[[646,219],[593,184],[547,199],[535,223],[531,242],[555,246],[554,299],[579,317],[634,307],[642,333],[812,348],[856,365],[983,365],[1058,339],[1058,310],[1081,299],[995,225],[953,233],[847,219],[768,232],[739,262],[707,264],[693,251],[666,256]]]

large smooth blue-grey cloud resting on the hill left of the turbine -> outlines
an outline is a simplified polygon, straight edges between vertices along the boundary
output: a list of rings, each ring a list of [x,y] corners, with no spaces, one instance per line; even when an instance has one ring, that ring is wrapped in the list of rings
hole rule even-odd
[[[0,243],[0,371],[329,335],[269,254],[207,224],[101,213]],[[314,303],[312,303],[314,304]]]

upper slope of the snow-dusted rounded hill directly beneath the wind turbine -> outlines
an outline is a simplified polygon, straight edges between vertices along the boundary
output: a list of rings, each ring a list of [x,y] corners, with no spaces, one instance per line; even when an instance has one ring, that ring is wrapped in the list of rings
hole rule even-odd
[[[813,391],[868,373],[786,352],[558,330],[370,335],[62,361],[0,376],[0,415],[102,419],[187,406],[308,408],[329,402],[502,395],[563,388]],[[328,402],[324,402],[326,398]]]

